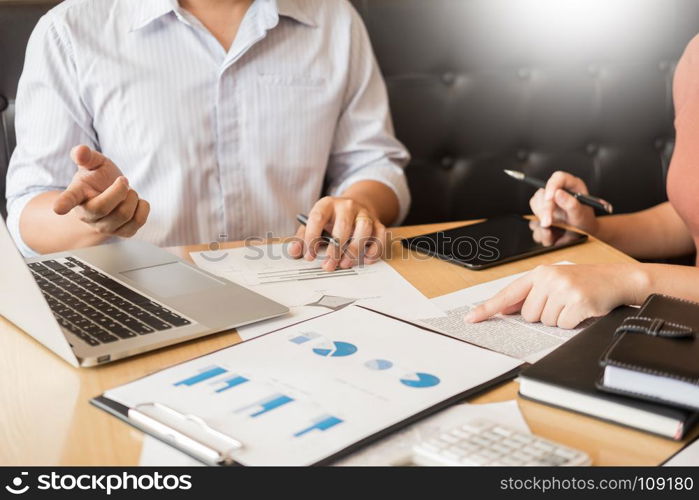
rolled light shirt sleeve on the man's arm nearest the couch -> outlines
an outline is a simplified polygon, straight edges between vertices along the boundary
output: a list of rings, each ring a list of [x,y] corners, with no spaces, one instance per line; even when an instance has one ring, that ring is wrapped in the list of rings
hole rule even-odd
[[[398,197],[400,224],[410,208],[404,168],[410,160],[395,138],[386,85],[379,71],[366,28],[354,9],[351,27],[349,81],[345,104],[335,132],[326,184],[329,194],[341,195],[352,184],[374,180]]]

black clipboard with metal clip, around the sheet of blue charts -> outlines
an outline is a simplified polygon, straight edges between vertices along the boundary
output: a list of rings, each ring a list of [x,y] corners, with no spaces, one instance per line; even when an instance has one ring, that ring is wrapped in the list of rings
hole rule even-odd
[[[432,330],[426,329],[424,327],[418,327],[416,325],[412,325],[408,322],[403,322],[399,321],[395,318],[389,318],[381,313],[371,311],[366,308],[362,308],[361,306],[352,306],[353,308],[356,307],[357,309],[363,309],[367,311],[368,314],[374,314],[377,317],[383,318],[383,321],[398,321],[399,323],[403,323],[404,325],[407,325],[411,328],[416,328],[419,330],[423,330],[425,332],[425,335],[436,335],[439,336],[440,338],[443,339],[448,339],[450,342],[454,342],[455,345],[464,345],[463,342],[453,339],[449,336],[443,335],[438,332],[433,332]],[[233,351],[235,349],[239,349],[239,346],[243,346],[245,344],[252,344],[252,343],[261,343],[264,342],[263,339],[265,338],[270,338],[270,336],[276,336],[275,341],[280,340],[280,336],[284,337],[284,332],[288,331],[293,331],[294,328],[298,328],[301,325],[307,324],[307,326],[313,326],[314,323],[317,323],[319,321],[328,321],[328,318],[332,318],[333,316],[338,315],[338,320],[339,318],[339,311],[337,313],[331,313],[329,315],[325,315],[322,318],[316,318],[309,320],[308,322],[304,322],[300,325],[294,325],[293,327],[288,327],[283,330],[279,330],[276,332],[272,332],[267,335],[263,335],[261,337],[249,340],[247,342],[242,342],[240,344],[236,344],[234,346],[226,347],[223,348],[219,351],[216,351],[215,353],[207,354],[204,356],[201,356],[199,358],[195,358],[194,360],[186,361],[183,363],[179,363],[178,365],[175,365],[175,367],[170,367],[165,370],[162,370],[161,372],[156,372],[156,375],[162,372],[166,372],[168,370],[175,369],[176,367],[183,367],[185,365],[188,365],[190,363],[196,362],[197,360],[201,360],[202,358],[207,358],[209,356],[212,356],[213,354],[216,353],[224,353],[227,351]],[[332,320],[332,319],[331,319]],[[307,329],[307,328],[306,328]],[[292,332],[293,333],[293,332]],[[479,349],[482,350],[478,347],[475,346],[469,346],[471,349]],[[483,352],[489,352],[486,350],[482,350]],[[498,355],[496,353],[490,353],[491,355],[496,355],[496,356],[502,356]],[[521,362],[516,362],[514,363],[513,360],[513,367],[511,369],[508,369],[502,373],[499,373],[497,376],[489,378],[488,380],[475,385],[475,386],[470,386],[470,387],[465,387],[464,390],[458,391],[457,393],[446,397],[446,398],[440,398],[438,401],[435,401],[434,404],[431,404],[430,406],[417,411],[417,412],[409,412],[408,414],[405,415],[404,418],[400,419],[399,421],[396,421],[394,423],[391,423],[390,425],[387,425],[385,427],[382,427],[380,429],[377,429],[376,432],[373,432],[369,435],[363,436],[359,439],[352,440],[351,442],[347,442],[341,449],[336,450],[332,453],[329,453],[323,457],[320,457],[318,460],[313,461],[312,463],[308,464],[303,464],[303,465],[328,465],[334,462],[335,460],[348,455],[376,440],[381,439],[382,437],[385,437],[399,429],[402,429],[418,420],[421,420],[429,415],[432,415],[448,406],[453,405],[454,403],[457,403],[463,399],[466,399],[470,396],[473,396],[485,389],[488,389],[490,387],[493,387],[497,384],[500,384],[504,381],[510,380],[517,376],[519,373],[522,364]],[[139,379],[139,381],[148,379],[149,377],[152,377],[153,375],[148,375],[146,377],[142,377]],[[138,383],[139,381],[136,381],[134,383]],[[129,385],[129,384],[127,384]],[[155,398],[154,398],[155,399]],[[107,413],[115,416],[116,418],[119,418],[123,422],[133,426],[134,428],[170,445],[173,446],[174,448],[178,449],[179,451],[187,454],[188,456],[206,464],[206,465],[211,465],[211,466],[243,466],[243,465],[260,465],[257,463],[251,463],[246,460],[241,460],[239,458],[239,454],[241,451],[243,451],[246,447],[254,447],[255,443],[254,442],[246,442],[246,439],[241,437],[241,436],[236,436],[235,431],[229,431],[229,432],[223,432],[220,429],[216,428],[214,425],[211,425],[210,422],[208,422],[205,418],[202,418],[200,415],[195,415],[191,413],[183,413],[182,411],[173,408],[171,405],[168,405],[162,401],[150,401],[150,402],[141,402],[137,405],[133,406],[128,406],[125,404],[122,404],[119,401],[116,401],[114,399],[111,399],[108,397],[106,394],[103,394],[101,396],[93,398],[91,401],[91,404],[96,406],[97,408],[100,408],[103,411],[106,411]]]

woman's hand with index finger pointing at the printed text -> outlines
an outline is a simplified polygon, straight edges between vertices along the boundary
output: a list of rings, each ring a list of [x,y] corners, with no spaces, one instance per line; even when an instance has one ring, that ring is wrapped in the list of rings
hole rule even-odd
[[[623,304],[640,304],[648,279],[639,264],[539,266],[482,303],[465,320],[514,314],[547,326],[575,328]]]

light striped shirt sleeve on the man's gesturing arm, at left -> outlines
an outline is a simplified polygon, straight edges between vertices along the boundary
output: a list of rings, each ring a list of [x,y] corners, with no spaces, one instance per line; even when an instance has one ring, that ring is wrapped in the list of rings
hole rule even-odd
[[[51,13],[41,18],[27,45],[15,104],[17,146],[7,172],[7,225],[20,251],[36,255],[22,240],[19,219],[40,193],[65,189],[75,172],[73,146],[96,147],[92,118],[80,98],[71,47]]]

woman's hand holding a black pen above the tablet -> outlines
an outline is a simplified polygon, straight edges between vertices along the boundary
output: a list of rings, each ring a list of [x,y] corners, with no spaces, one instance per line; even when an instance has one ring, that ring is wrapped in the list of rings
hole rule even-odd
[[[589,194],[582,179],[566,172],[555,172],[546,183],[546,189],[539,189],[529,200],[532,213],[542,227],[559,222],[594,235],[598,229],[594,209],[578,202],[564,189]]]

